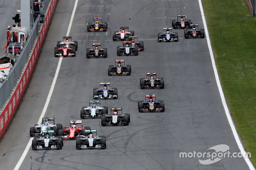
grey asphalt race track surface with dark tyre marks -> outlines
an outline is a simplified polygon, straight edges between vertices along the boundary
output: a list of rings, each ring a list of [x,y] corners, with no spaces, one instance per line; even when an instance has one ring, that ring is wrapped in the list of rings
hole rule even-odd
[[[0,169],[13,169],[30,139],[29,128],[42,113],[59,58],[54,46],[67,33],[75,1],[59,2],[36,71],[20,109],[0,143]],[[105,6],[102,6],[105,5]],[[101,106],[123,107],[130,113],[129,126],[100,125],[100,119],[83,119],[84,126],[106,136],[107,148],[76,150],[75,140],[65,140],[61,150],[31,147],[20,169],[248,169],[243,158],[224,158],[212,165],[201,165],[199,158],[179,158],[180,152],[206,152],[212,146],[227,144],[239,152],[228,124],[206,39],[184,39],[177,29],[178,42],[157,42],[157,33],[172,26],[172,19],[185,14],[203,28],[197,0],[182,1],[78,1],[70,36],[78,41],[76,57],[65,57],[45,117],[69,126],[80,120],[80,109],[93,99],[92,90],[100,82],[118,88],[118,99],[101,100]],[[87,22],[102,17],[108,31],[88,33]],[[131,18],[131,19],[129,19]],[[145,50],[138,56],[117,56],[112,34],[129,26]],[[85,34],[86,33],[86,34]],[[108,58],[85,57],[85,48],[102,43]],[[131,64],[131,76],[108,76],[108,65],[116,59]],[[140,89],[140,78],[156,72],[164,78],[164,89]],[[165,112],[139,113],[137,101],[145,94],[164,100]]]

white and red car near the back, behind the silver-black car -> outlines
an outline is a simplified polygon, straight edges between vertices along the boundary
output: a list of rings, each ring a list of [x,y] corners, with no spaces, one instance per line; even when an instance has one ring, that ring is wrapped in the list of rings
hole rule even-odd
[[[134,36],[134,31],[129,32],[129,26],[120,26],[120,32],[115,31],[113,34],[113,41],[116,40],[132,40],[129,36]]]

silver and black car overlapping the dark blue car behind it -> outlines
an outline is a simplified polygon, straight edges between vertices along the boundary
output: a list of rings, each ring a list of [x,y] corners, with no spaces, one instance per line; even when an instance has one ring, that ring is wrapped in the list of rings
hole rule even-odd
[[[116,48],[117,55],[138,55],[137,45],[132,46],[131,41],[123,41],[123,47],[117,46]]]

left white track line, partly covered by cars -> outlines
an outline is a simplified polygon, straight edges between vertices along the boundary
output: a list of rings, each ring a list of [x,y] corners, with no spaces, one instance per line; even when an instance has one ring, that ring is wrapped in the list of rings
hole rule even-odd
[[[68,25],[68,31],[67,31],[66,36],[69,35],[70,29],[71,29],[71,26],[72,26],[73,18],[74,18],[75,11],[76,11],[77,2],[78,2],[78,0],[76,0],[76,2],[75,2],[74,9],[73,9],[73,12],[72,12],[72,15],[71,15],[71,18],[70,18],[70,22],[69,22],[69,25]],[[58,63],[58,66],[57,66],[57,69],[56,69],[56,72],[55,72],[55,75],[54,75],[54,78],[53,78],[53,81],[52,81],[50,92],[49,92],[49,94],[47,96],[46,102],[44,104],[43,111],[42,111],[42,113],[41,113],[41,115],[39,117],[39,120],[38,120],[37,124],[41,123],[42,117],[44,117],[46,109],[47,109],[47,107],[48,107],[48,105],[50,103],[50,99],[52,97],[52,92],[53,92],[53,89],[54,89],[54,86],[55,86],[55,83],[56,83],[56,80],[57,80],[57,77],[58,77],[58,74],[59,74],[59,71],[60,71],[60,65],[61,65],[61,62],[62,62],[62,58],[63,57],[60,57],[60,60],[59,60],[59,63]],[[25,157],[26,157],[26,155],[28,153],[28,150],[29,150],[29,148],[31,146],[32,140],[33,140],[33,138],[30,138],[30,140],[28,141],[28,144],[27,144],[23,154],[21,155],[20,160],[18,161],[17,165],[15,166],[14,170],[18,170],[20,168],[20,165],[22,164],[23,160],[25,159]]]

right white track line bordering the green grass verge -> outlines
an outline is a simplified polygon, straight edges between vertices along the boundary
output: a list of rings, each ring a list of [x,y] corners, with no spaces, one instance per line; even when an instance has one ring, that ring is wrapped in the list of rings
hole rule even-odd
[[[237,143],[237,145],[240,149],[240,152],[243,155],[245,155],[244,147],[243,147],[243,145],[242,145],[242,143],[241,143],[241,141],[238,137],[238,134],[236,132],[236,128],[235,128],[235,126],[233,124],[233,121],[232,121],[232,118],[230,116],[228,106],[227,106],[227,103],[226,103],[226,100],[225,100],[225,96],[224,96],[224,93],[222,91],[222,87],[221,87],[221,84],[220,84],[220,79],[219,79],[219,75],[218,75],[217,68],[216,68],[216,65],[215,65],[214,56],[213,56],[213,52],[212,52],[212,46],[211,46],[211,42],[210,42],[210,38],[209,38],[208,29],[207,29],[207,26],[206,26],[205,17],[204,17],[204,10],[203,10],[203,6],[202,6],[202,2],[201,2],[201,0],[198,0],[198,2],[199,2],[200,10],[201,10],[201,15],[202,15],[203,23],[204,23],[204,30],[205,30],[205,33],[206,33],[207,44],[208,44],[208,48],[209,48],[209,52],[210,52],[211,60],[212,60],[212,67],[213,67],[215,79],[216,79],[216,82],[217,82],[217,85],[218,85],[218,88],[219,88],[221,101],[222,101],[223,107],[225,109],[226,116],[228,118],[228,123],[229,123],[229,125],[232,129],[233,135],[236,139],[236,143]],[[247,163],[247,165],[249,166],[249,168],[251,170],[254,170],[254,167],[253,167],[252,162],[250,161],[250,159],[249,158],[244,158],[244,159],[245,159],[245,162]]]

